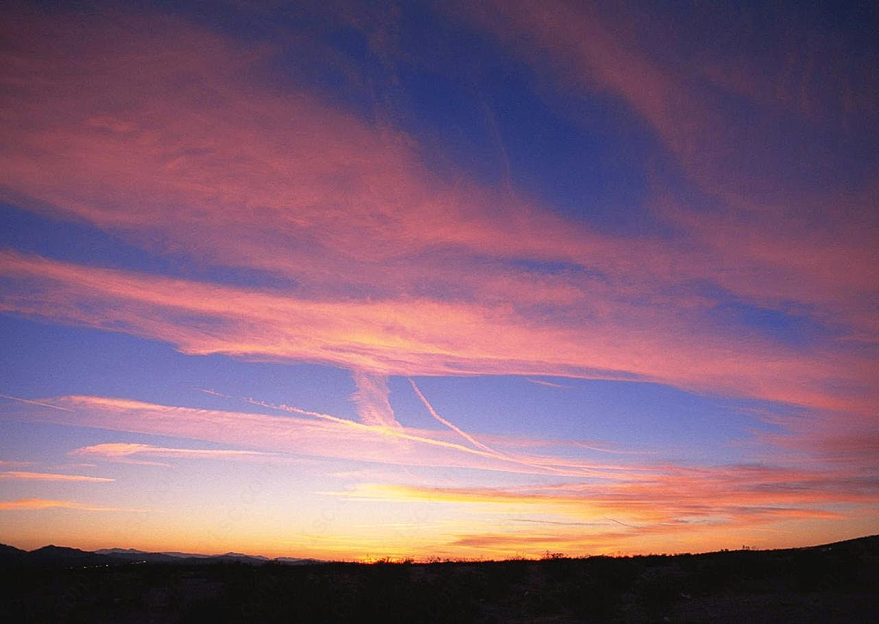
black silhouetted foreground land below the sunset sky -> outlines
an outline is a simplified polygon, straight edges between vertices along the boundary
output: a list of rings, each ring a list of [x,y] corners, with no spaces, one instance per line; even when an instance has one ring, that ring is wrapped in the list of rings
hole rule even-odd
[[[879,620],[879,536],[770,551],[427,564],[145,562],[136,551],[53,548],[0,549],[4,621]]]

